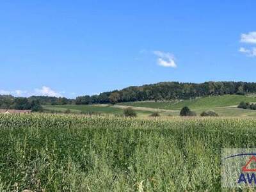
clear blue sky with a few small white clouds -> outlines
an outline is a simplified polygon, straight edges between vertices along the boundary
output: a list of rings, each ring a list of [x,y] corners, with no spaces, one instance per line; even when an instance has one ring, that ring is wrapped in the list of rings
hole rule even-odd
[[[0,94],[256,81],[256,1],[0,3]]]

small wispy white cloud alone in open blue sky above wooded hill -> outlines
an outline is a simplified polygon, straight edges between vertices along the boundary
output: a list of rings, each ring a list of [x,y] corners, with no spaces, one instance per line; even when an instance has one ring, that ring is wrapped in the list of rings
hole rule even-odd
[[[177,67],[173,54],[170,52],[153,51],[153,53],[158,57],[157,64],[163,67]]]

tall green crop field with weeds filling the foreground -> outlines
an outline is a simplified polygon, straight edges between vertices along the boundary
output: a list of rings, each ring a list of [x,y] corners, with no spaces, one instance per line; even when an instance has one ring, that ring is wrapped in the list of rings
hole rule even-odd
[[[221,191],[221,148],[255,148],[255,124],[0,114],[0,191]]]

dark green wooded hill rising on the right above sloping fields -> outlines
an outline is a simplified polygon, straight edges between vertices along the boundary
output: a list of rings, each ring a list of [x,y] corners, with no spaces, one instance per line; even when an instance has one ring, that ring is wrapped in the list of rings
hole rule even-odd
[[[162,82],[143,86],[130,86],[123,90],[104,92],[99,95],[77,97],[76,104],[191,99],[208,95],[244,95],[246,93],[256,93],[256,83],[231,81],[205,83]]]

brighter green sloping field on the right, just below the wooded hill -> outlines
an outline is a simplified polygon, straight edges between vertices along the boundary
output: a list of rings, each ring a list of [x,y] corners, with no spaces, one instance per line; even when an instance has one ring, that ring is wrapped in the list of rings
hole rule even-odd
[[[202,111],[213,110],[220,116],[248,116],[256,117],[256,111],[250,109],[239,109],[236,106],[241,102],[256,102],[255,95],[223,95],[216,97],[201,97],[191,100],[180,100],[172,102],[123,102],[118,103],[120,106],[132,106],[133,108],[155,108],[165,109],[162,115],[179,115],[179,111],[184,106],[188,106],[191,110],[200,115]],[[168,111],[174,110],[174,111]]]

